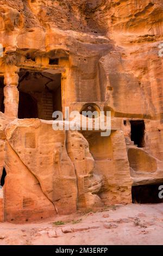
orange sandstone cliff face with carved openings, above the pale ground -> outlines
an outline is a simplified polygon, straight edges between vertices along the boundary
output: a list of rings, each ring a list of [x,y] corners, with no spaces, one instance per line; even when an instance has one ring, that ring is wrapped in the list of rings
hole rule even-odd
[[[1,222],[141,202],[136,186],[163,182],[162,9],[161,0],[0,1]],[[67,121],[67,107],[78,118],[97,111],[93,129],[87,117],[85,130]],[[105,123],[111,112],[109,136],[95,129],[100,111]],[[80,130],[65,129],[70,121]]]

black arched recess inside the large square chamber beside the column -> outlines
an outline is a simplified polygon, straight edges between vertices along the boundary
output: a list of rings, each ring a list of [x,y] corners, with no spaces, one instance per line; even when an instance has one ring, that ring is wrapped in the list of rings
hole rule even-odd
[[[37,118],[37,101],[28,93],[19,93],[18,118]]]

